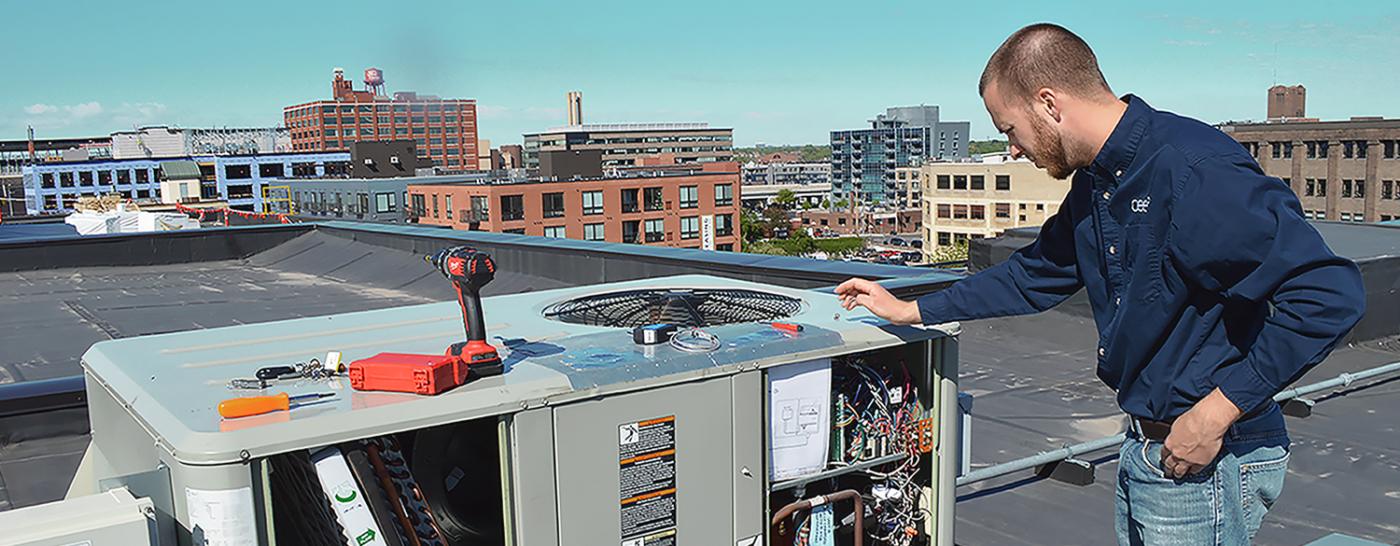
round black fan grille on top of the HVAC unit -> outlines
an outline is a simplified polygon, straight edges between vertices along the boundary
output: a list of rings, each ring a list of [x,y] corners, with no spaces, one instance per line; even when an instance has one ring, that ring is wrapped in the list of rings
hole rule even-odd
[[[802,300],[743,288],[626,290],[560,301],[545,308],[554,321],[636,328],[655,323],[715,326],[795,315]]]

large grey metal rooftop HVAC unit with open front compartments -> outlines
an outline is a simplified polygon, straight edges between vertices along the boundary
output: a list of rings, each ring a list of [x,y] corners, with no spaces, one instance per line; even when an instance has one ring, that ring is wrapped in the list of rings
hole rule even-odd
[[[462,311],[97,343],[83,357],[92,442],[70,498],[118,487],[148,498],[161,545],[714,546],[853,543],[848,500],[862,497],[865,545],[952,545],[945,330],[710,276],[500,295],[482,309],[501,375],[435,396],[274,379],[260,393],[333,396],[242,419],[216,412],[241,396],[232,378],[328,351],[442,354],[462,337]],[[658,343],[637,336],[652,330]],[[827,494],[825,508],[785,515]]]

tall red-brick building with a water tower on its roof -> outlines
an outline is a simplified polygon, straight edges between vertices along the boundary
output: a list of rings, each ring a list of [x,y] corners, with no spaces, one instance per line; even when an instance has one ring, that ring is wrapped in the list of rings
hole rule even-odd
[[[449,171],[475,171],[475,99],[445,99],[399,91],[384,94],[384,73],[365,70],[367,91],[356,91],[336,69],[332,98],[283,108],[295,151],[347,150],[361,140],[412,139],[420,157]]]

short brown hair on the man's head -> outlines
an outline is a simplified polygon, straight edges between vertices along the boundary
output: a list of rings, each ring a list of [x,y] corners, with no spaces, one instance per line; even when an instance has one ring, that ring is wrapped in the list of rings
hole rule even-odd
[[[1022,97],[1044,87],[1086,98],[1113,95],[1089,45],[1051,22],[1025,27],[1007,38],[987,60],[977,94],[984,95],[993,80]]]

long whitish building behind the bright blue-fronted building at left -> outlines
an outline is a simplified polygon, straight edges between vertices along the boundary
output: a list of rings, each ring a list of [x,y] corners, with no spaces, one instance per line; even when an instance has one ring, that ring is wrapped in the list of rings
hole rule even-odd
[[[291,153],[286,127],[181,129],[164,125],[112,133],[113,160]]]

